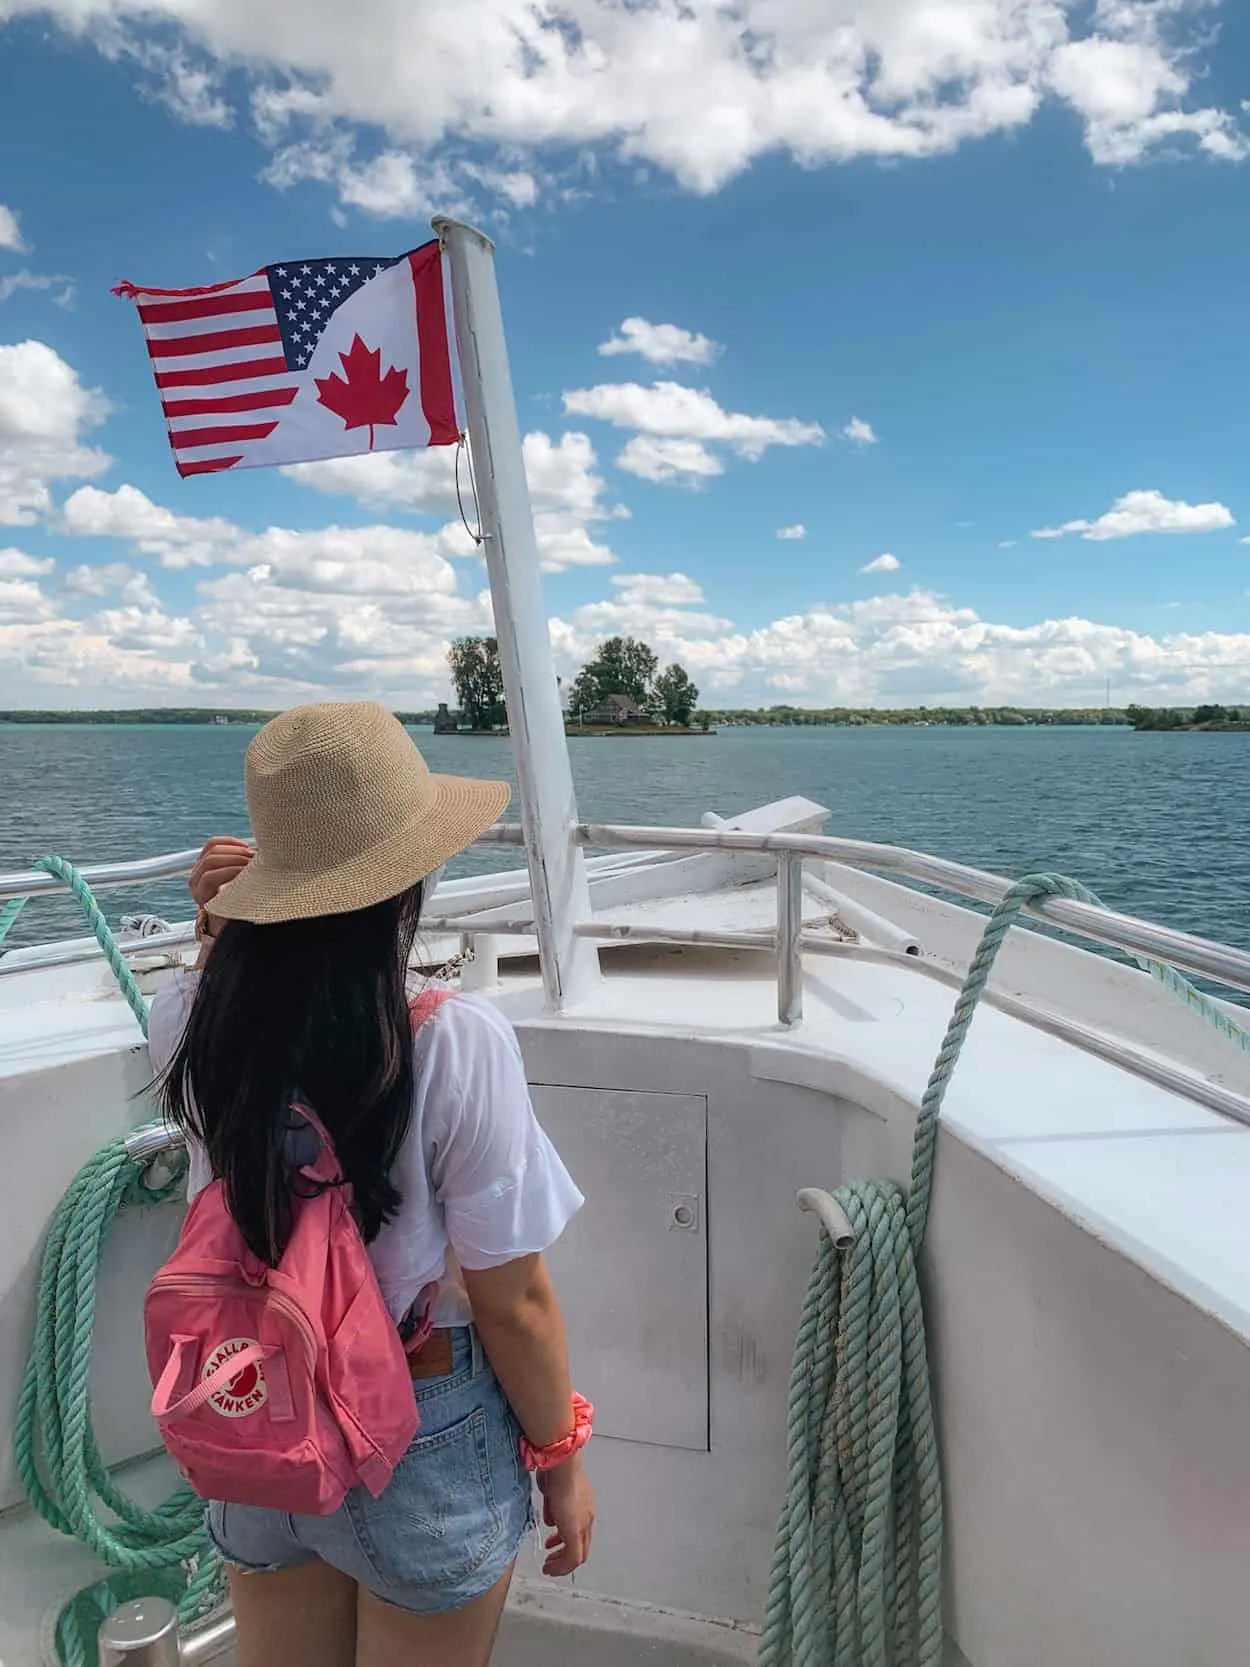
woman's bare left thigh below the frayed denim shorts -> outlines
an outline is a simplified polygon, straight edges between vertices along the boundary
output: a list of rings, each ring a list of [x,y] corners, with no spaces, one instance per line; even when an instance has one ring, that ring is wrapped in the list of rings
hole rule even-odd
[[[357,1584],[320,1560],[258,1574],[230,1570],[238,1667],[353,1667]]]

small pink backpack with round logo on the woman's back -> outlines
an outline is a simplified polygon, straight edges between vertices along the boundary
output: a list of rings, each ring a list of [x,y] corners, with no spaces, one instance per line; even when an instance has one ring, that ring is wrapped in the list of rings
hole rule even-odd
[[[413,1025],[448,994],[418,997]],[[322,1137],[302,1174],[340,1180],[328,1135],[298,1110]],[[295,1195],[272,1269],[248,1250],[213,1180],[152,1280],[152,1414],[202,1499],[328,1517],[357,1485],[382,1494],[417,1434],[405,1349],[350,1205],[348,1185]]]

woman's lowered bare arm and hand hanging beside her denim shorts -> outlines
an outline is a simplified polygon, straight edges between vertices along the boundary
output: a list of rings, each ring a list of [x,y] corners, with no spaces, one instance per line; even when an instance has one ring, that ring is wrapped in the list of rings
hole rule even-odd
[[[540,1255],[525,1255],[502,1267],[462,1272],[482,1345],[522,1430],[533,1447],[552,1447],[572,1434],[573,1392],[565,1322],[547,1264]],[[553,1529],[543,1574],[572,1574],[590,1555],[595,1525],[595,1495],[582,1455],[542,1470],[538,1487],[543,1520]]]

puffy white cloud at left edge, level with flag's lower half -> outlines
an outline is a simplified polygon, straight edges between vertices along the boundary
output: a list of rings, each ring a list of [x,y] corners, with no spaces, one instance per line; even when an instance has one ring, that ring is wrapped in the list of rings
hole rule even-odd
[[[45,342],[0,343],[0,527],[52,507],[50,483],[98,475],[108,455],[83,443],[108,402]]]

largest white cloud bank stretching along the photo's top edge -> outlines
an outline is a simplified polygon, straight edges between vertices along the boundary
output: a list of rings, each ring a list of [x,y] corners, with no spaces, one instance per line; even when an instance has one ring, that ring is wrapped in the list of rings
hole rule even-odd
[[[157,30],[173,62],[142,73],[190,118],[223,120],[215,77],[243,72],[265,142],[323,148],[357,125],[422,175],[445,153],[463,173],[467,148],[573,167],[607,150],[712,192],[775,152],[805,167],[940,155],[1047,100],[1075,110],[1095,162],[1177,140],[1245,148],[1192,97],[1212,57],[1202,0],[357,0],[347,25],[335,0],[7,0],[22,13],[113,52]]]

